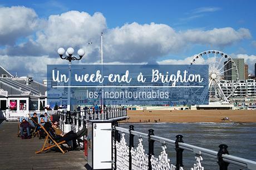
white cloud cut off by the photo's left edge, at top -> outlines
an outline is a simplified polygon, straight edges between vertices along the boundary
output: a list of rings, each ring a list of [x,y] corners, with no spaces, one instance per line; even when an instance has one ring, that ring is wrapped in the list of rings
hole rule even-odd
[[[0,45],[12,45],[18,38],[32,34],[39,21],[31,8],[0,7]]]

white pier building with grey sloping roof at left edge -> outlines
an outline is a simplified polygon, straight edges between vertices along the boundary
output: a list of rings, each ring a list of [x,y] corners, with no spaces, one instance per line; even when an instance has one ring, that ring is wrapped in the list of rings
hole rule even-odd
[[[32,77],[13,76],[0,66],[0,111],[39,111],[46,106],[46,90]]]

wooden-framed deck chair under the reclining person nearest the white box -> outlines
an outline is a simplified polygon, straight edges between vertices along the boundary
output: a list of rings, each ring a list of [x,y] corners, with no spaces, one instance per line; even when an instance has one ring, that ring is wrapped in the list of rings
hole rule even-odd
[[[48,149],[51,149],[51,148],[55,148],[57,147],[58,149],[60,149],[60,151],[62,153],[65,153],[67,152],[67,149],[62,149],[62,148],[65,148],[63,147],[63,144],[67,143],[66,141],[61,141],[61,142],[57,142],[55,140],[55,138],[51,135],[51,133],[48,133],[45,129],[45,127],[43,127],[41,124],[40,124],[40,127],[43,129],[43,131],[45,131],[45,133],[47,134],[46,138],[45,138],[45,142],[43,143],[43,146],[41,148],[40,151],[36,151],[35,153],[41,153],[43,151],[47,151]]]

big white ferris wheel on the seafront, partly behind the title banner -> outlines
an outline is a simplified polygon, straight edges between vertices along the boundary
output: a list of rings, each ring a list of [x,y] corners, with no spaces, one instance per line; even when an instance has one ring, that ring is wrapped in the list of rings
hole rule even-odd
[[[224,52],[209,50],[195,55],[190,64],[208,64],[209,72],[205,76],[208,76],[209,88],[201,97],[209,93],[209,102],[229,103],[228,98],[234,93],[239,80],[233,59]]]

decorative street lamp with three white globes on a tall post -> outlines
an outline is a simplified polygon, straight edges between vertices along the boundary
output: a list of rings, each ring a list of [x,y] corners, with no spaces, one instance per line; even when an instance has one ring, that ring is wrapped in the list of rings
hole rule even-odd
[[[70,47],[67,49],[67,51],[65,51],[64,48],[59,48],[58,49],[58,54],[60,55],[61,59],[66,59],[68,60],[68,87],[67,87],[67,111],[71,110],[71,61],[75,61],[75,60],[80,60],[82,59],[82,57],[85,55],[85,51],[83,51],[83,49],[78,49],[77,54],[79,56],[79,58],[76,58],[75,56],[72,56],[73,53],[75,52],[75,50]],[[63,57],[63,55],[66,54],[65,57]]]

